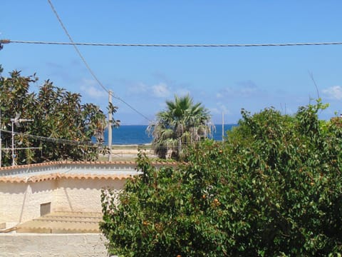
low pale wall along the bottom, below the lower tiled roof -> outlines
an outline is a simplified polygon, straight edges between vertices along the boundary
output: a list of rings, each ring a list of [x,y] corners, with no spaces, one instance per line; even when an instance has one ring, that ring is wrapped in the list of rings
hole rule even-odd
[[[100,234],[0,233],[0,256],[108,256]]]

